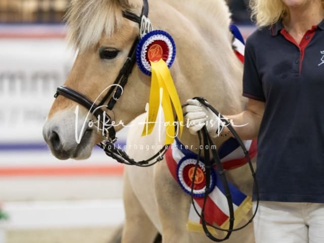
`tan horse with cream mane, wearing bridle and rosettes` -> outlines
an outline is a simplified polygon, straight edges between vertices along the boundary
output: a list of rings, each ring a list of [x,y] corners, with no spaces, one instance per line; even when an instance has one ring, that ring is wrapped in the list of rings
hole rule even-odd
[[[241,96],[242,64],[232,50],[230,12],[225,1],[150,0],[148,5],[154,29],[167,31],[176,43],[177,55],[170,71],[181,104],[203,96],[223,114],[244,110],[247,100]],[[88,158],[92,148],[104,139],[100,130],[83,126],[90,120],[89,110],[93,111],[89,101],[106,99],[102,91],[114,83],[125,60],[131,59],[128,53],[140,30],[132,21],[136,18],[127,18],[124,13],[140,16],[142,9],[143,0],[71,1],[67,13],[68,41],[78,54],[64,85],[77,94],[65,91],[65,95],[58,95],[43,128],[45,141],[57,158]],[[145,149],[146,146],[164,145],[157,126],[151,135],[141,136],[143,128],[138,125],[145,120],[150,78],[134,66],[121,93],[120,98],[110,99],[113,112],[107,113],[111,119],[130,126],[130,157],[150,157],[158,146]],[[81,102],[87,108],[79,106],[78,94],[87,97]],[[115,127],[116,131],[121,127]],[[193,148],[198,146],[197,136],[187,129],[180,140]],[[224,140],[218,138],[215,143],[218,146]],[[144,149],[139,149],[140,145]],[[253,181],[247,165],[227,171],[227,177],[241,191],[251,193]],[[190,196],[172,178],[165,159],[148,168],[127,166],[123,197],[126,219],[122,242],[153,242],[158,232],[164,243],[213,242],[204,233],[187,230]],[[252,224],[233,232],[226,242],[238,240],[254,242]]]

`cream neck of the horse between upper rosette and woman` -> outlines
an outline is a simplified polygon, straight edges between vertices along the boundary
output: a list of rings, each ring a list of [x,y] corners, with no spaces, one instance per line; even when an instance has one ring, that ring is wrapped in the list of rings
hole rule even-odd
[[[150,0],[154,28],[168,31],[177,44],[171,68],[181,104],[206,98],[222,114],[244,108],[242,64],[231,49],[230,14],[225,1]],[[169,13],[168,18],[164,13]],[[177,23],[177,24],[175,24]],[[181,141],[196,144],[196,136],[184,129]]]

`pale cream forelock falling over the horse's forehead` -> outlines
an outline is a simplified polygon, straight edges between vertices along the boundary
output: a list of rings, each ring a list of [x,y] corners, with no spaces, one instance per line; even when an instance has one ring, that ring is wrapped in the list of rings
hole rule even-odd
[[[84,51],[96,45],[103,34],[111,37],[121,29],[123,10],[134,11],[140,3],[140,0],[72,0],[65,16],[69,45]]]

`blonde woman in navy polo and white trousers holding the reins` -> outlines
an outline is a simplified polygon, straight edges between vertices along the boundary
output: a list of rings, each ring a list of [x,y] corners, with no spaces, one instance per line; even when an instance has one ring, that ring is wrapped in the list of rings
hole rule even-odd
[[[228,118],[247,124],[235,127],[242,139],[258,137],[256,242],[324,242],[324,1],[250,4],[259,28],[245,49],[249,101]],[[213,137],[229,133],[210,110],[188,103],[191,133],[205,124]]]

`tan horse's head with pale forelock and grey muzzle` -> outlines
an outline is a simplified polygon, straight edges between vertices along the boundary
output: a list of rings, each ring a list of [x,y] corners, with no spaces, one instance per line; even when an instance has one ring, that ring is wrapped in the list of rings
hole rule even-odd
[[[138,92],[132,91],[132,87],[123,89],[111,86],[118,78],[118,82],[124,78],[119,74],[125,68],[125,63],[130,61],[128,55],[131,55],[130,50],[136,46],[139,36],[139,24],[130,19],[132,16],[140,16],[142,7],[142,0],[74,0],[67,13],[70,27],[68,40],[78,50],[78,54],[64,87],[76,91],[82,99],[93,102],[95,106],[102,101],[101,110],[108,114],[108,119],[117,123],[122,120],[128,124],[143,113],[149,95],[149,78],[137,68],[132,72],[132,65],[128,65],[130,70],[126,70],[129,72],[127,76],[132,72],[129,86],[136,86]],[[131,17],[123,17],[125,13]],[[103,103],[110,88],[111,97],[107,98],[112,101],[117,100],[114,92],[123,94],[123,99],[116,102],[113,112],[106,109],[106,103]],[[89,122],[93,125],[98,119],[95,112],[89,112],[89,107],[75,101],[60,95],[58,89],[43,129],[52,153],[60,159],[87,158],[94,145],[104,139],[103,127],[99,128],[99,122],[98,126],[89,126]],[[102,117],[104,114],[101,114]],[[118,126],[116,130],[121,128]]]

